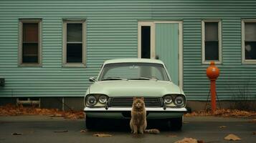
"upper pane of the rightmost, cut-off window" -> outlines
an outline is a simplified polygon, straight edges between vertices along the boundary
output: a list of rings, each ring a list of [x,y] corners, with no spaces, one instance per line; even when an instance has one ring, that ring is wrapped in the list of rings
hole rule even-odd
[[[245,23],[245,41],[256,41],[256,23]]]

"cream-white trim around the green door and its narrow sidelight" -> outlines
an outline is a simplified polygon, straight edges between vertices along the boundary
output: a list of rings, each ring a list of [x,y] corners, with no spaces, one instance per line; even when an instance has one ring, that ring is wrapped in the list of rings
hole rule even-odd
[[[179,87],[183,88],[183,21],[138,21],[138,58],[141,59],[141,26],[151,26],[151,59],[156,57],[156,24],[179,24]]]

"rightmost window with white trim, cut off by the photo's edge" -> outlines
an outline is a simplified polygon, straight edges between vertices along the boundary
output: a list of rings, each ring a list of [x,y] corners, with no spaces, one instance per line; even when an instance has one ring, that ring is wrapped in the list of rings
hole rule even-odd
[[[256,20],[242,21],[242,61],[256,63]]]

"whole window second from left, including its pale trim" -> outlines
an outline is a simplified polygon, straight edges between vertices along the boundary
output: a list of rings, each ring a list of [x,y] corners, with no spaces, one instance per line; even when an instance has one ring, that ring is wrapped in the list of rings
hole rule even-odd
[[[64,21],[65,66],[85,66],[85,21]]]

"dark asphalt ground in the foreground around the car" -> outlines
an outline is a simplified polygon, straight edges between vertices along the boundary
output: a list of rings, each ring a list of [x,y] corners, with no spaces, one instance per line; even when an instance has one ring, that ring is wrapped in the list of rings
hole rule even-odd
[[[255,142],[256,123],[252,119],[222,117],[185,117],[179,132],[161,131],[160,134],[133,135],[125,125],[109,124],[114,129],[86,131],[83,119],[63,119],[47,116],[0,117],[0,142],[175,142],[184,137],[204,142],[232,142],[224,140],[228,134],[242,138],[236,142]],[[86,132],[81,132],[84,130]],[[13,135],[14,133],[20,135]],[[111,137],[94,137],[95,133]]]

